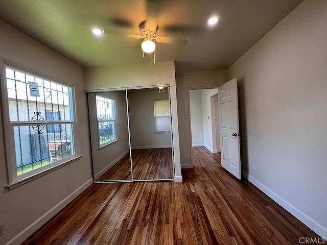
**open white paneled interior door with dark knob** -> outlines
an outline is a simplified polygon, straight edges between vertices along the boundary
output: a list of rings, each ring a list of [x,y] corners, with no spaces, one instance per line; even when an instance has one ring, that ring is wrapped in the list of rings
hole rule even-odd
[[[218,88],[221,165],[241,179],[239,105],[236,78]]]

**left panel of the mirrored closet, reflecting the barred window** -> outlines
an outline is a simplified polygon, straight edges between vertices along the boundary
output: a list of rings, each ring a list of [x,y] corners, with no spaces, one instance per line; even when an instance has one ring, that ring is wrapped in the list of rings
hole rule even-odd
[[[95,181],[132,180],[126,90],[89,93]]]

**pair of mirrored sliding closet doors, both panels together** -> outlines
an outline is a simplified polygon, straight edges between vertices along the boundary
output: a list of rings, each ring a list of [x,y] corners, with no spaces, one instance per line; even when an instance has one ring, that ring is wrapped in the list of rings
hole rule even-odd
[[[174,180],[169,87],[88,94],[95,182]]]

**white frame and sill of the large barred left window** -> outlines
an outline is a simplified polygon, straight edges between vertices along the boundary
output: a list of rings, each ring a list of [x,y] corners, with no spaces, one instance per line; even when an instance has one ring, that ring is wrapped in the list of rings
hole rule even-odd
[[[22,174],[17,176],[17,165],[16,165],[16,150],[15,150],[15,139],[14,139],[14,127],[16,126],[31,126],[31,125],[53,125],[58,124],[58,121],[47,121],[47,122],[31,122],[31,121],[10,121],[9,115],[9,103],[8,103],[8,90],[7,90],[7,76],[6,76],[6,68],[10,68],[13,70],[17,70],[26,75],[33,76],[35,78],[40,78],[46,81],[54,82],[59,85],[68,86],[71,88],[71,120],[63,120],[60,121],[60,124],[72,124],[72,148],[74,152],[72,156],[69,156],[64,159],[60,159],[54,163],[39,167],[35,170],[32,170],[26,174]],[[75,103],[75,87],[72,84],[68,84],[58,79],[54,79],[45,75],[40,74],[39,72],[35,72],[33,70],[29,70],[25,67],[18,66],[16,64],[5,62],[0,59],[0,70],[2,70],[0,74],[1,81],[1,95],[2,95],[2,111],[3,111],[3,122],[4,122],[4,138],[5,138],[5,155],[6,155],[6,166],[7,166],[7,185],[8,189],[15,188],[22,184],[25,184],[31,180],[39,178],[50,171],[58,169],[66,164],[74,162],[81,158],[78,144],[78,134],[77,134],[77,120],[76,120],[76,103]]]

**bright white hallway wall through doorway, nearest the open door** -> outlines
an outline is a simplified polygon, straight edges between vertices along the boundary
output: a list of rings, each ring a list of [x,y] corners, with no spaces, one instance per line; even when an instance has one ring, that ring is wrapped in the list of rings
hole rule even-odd
[[[213,135],[212,127],[212,105],[211,105],[211,96],[218,93],[218,88],[213,89],[203,89],[202,90],[202,114],[203,114],[203,144],[206,149],[212,153],[217,153],[217,144],[213,143],[213,137],[216,137],[216,131]]]

